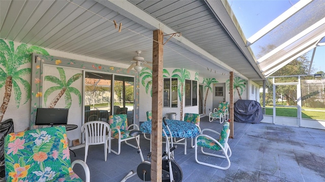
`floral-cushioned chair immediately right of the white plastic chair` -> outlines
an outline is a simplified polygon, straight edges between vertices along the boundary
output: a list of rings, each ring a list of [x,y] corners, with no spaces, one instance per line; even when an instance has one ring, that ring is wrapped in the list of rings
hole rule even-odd
[[[111,137],[108,140],[109,141],[109,153],[112,151],[114,154],[119,155],[121,152],[121,142],[124,141],[125,144],[138,149],[137,146],[128,143],[127,140],[130,139],[135,139],[136,137],[138,137],[139,141],[140,141],[140,136],[129,136],[129,132],[131,130],[129,130],[130,127],[133,127],[132,130],[139,130],[139,126],[136,124],[132,124],[127,126],[127,115],[111,115],[108,117],[108,123],[111,127]],[[111,143],[112,143],[112,139],[118,139],[118,151],[114,151],[111,149]]]

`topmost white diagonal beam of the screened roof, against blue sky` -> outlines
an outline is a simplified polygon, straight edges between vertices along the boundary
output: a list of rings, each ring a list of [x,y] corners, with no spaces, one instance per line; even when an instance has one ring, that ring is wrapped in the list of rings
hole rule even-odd
[[[257,31],[255,34],[253,34],[249,39],[247,39],[246,45],[250,46],[257,40],[261,39],[265,34],[270,32],[271,30],[273,30],[275,27],[277,27],[279,24],[281,24],[286,19],[293,16],[295,13],[300,11],[302,8],[307,6],[312,1],[313,0],[299,1],[296,5],[289,8],[287,11],[285,11],[280,16],[278,16],[273,21],[271,21],[269,24],[267,24],[265,27],[263,27],[261,30]]]

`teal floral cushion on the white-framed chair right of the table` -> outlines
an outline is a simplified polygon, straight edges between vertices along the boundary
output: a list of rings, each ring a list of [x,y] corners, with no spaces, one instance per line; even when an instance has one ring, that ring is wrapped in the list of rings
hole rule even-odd
[[[222,147],[224,147],[224,143],[227,137],[227,132],[230,132],[230,130],[228,129],[229,129],[229,122],[225,122],[222,127],[220,137],[219,139],[217,139],[217,141],[222,145]],[[207,138],[205,136],[199,136],[197,141],[198,141],[197,142],[198,146],[208,148],[214,151],[221,150],[220,146],[216,142],[214,142],[211,138]]]

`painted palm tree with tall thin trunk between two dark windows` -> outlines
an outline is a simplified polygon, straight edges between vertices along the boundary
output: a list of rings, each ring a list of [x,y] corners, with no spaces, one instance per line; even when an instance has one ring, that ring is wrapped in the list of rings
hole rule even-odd
[[[178,97],[181,104],[180,108],[180,120],[183,120],[183,96],[185,93],[184,84],[185,79],[190,79],[190,73],[187,69],[174,69],[172,78],[178,79]]]

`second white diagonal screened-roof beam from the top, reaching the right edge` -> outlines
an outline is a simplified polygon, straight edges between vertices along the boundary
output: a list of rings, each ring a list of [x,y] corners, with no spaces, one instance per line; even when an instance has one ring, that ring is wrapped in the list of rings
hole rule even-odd
[[[286,41],[282,45],[278,46],[277,48],[275,48],[271,52],[269,52],[266,55],[259,58],[257,60],[257,64],[259,64],[259,63],[263,62],[264,60],[268,59],[269,57],[273,56],[274,54],[276,54],[280,50],[284,49],[285,47],[289,46],[290,44],[292,44],[292,43],[296,42],[297,40],[301,39],[302,37],[304,37],[305,35],[307,35],[308,33],[310,33],[311,31],[313,31],[315,29],[320,29],[320,30],[325,29],[325,18],[319,20],[315,24],[313,24],[310,27],[306,28],[304,31],[298,33],[295,37],[289,39],[288,41]]]

